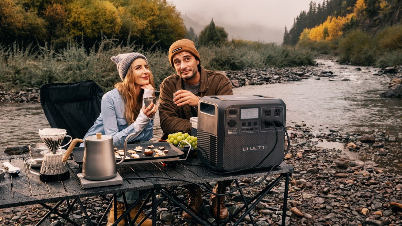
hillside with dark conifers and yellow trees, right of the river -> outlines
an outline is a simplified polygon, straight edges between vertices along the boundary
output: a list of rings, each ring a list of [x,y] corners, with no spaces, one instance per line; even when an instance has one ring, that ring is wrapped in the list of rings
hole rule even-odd
[[[330,0],[310,3],[283,43],[337,55],[341,64],[402,65],[402,2],[394,0]],[[297,33],[299,32],[299,33]]]

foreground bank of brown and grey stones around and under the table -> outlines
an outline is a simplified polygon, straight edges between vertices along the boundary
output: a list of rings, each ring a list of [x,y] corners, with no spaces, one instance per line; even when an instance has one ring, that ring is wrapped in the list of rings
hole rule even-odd
[[[289,185],[286,225],[402,225],[401,169],[397,171],[381,167],[373,163],[371,160],[374,159],[371,158],[367,161],[360,159],[365,156],[392,158],[401,152],[402,134],[398,134],[398,137],[382,131],[373,131],[372,134],[340,134],[328,129],[314,135],[304,123],[293,123],[287,129],[291,147],[285,161],[295,166],[295,172]],[[322,148],[324,142],[336,144],[340,148]],[[260,179],[240,179],[240,185]],[[274,179],[269,177],[256,187],[244,189],[243,193],[247,198]],[[284,181],[280,182],[252,211],[256,225],[276,225],[280,222],[284,185]],[[184,188],[178,187],[176,194],[179,197],[185,196]],[[208,211],[208,193],[203,193],[203,197],[206,207],[203,214],[213,221]],[[89,197],[83,203],[94,222],[100,219],[108,204],[100,197]],[[242,205],[238,192],[228,195],[226,207],[231,214]],[[150,211],[151,203],[147,207],[147,211]],[[3,209],[0,213],[0,225],[33,225],[45,215],[46,209],[31,205]],[[196,225],[185,224],[180,217],[180,208],[174,207],[170,201],[165,201],[158,209],[158,225]],[[78,204],[70,218],[84,225],[84,213]],[[250,225],[250,222],[247,216],[242,225]],[[53,214],[43,225],[71,224]]]

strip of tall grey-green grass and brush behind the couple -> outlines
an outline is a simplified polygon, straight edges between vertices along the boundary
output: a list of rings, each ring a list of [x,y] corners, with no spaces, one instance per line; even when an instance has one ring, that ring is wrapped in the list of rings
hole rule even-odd
[[[201,65],[210,70],[242,70],[271,66],[313,65],[312,52],[271,43],[232,40],[225,44],[197,47]],[[163,49],[145,49],[136,43],[123,45],[117,39],[102,39],[92,47],[69,42],[57,51],[47,45],[21,47],[17,43],[0,45],[0,89],[20,90],[40,87],[49,82],[94,80],[105,91],[119,81],[116,64],[111,56],[137,51],[148,58],[158,86],[175,71],[170,67]],[[157,89],[159,87],[156,87]]]

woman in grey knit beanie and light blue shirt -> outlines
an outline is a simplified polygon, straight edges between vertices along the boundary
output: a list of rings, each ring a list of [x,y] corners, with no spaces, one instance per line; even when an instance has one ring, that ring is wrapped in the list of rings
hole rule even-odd
[[[113,137],[113,144],[124,144],[125,138],[136,133],[130,138],[129,143],[148,141],[154,135],[153,117],[157,106],[151,103],[148,107],[144,106],[143,98],[154,95],[154,77],[148,66],[146,57],[140,53],[124,53],[112,57],[111,60],[117,64],[117,70],[122,82],[115,84],[115,88],[107,92],[102,97],[101,113],[94,125],[85,134],[87,136],[102,133]],[[127,203],[130,205],[139,197],[138,191],[125,193]],[[140,203],[141,204],[141,203]],[[139,210],[135,206],[130,212],[131,218]],[[124,201],[121,193],[117,194],[117,218],[125,210]],[[144,213],[140,213],[135,225],[143,218]],[[115,222],[114,205],[108,216],[107,225]],[[125,225],[125,220],[121,220],[119,226]],[[151,226],[152,220],[146,219],[142,226]]]

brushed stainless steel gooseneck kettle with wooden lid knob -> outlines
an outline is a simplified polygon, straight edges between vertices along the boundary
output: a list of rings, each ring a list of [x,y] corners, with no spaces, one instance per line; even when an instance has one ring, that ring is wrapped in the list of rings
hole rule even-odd
[[[117,174],[117,165],[121,164],[126,157],[127,141],[135,133],[129,134],[124,142],[124,156],[116,163],[115,151],[113,146],[113,137],[96,133],[94,136],[85,138],[84,160],[82,164],[82,174],[85,179],[91,181],[103,181],[111,179]],[[77,142],[84,142],[81,139],[74,139],[70,144],[74,148]],[[70,147],[67,150],[67,156],[70,156]]]

